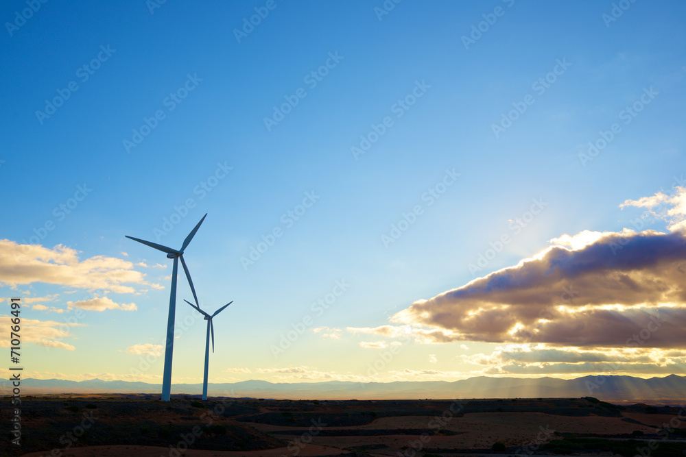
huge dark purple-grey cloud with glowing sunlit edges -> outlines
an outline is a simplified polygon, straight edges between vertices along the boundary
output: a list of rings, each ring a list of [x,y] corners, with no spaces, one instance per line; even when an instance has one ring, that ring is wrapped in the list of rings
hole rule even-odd
[[[650,208],[672,232],[591,232],[431,299],[390,321],[423,343],[482,341],[574,347],[681,347],[686,328],[686,187],[621,208]],[[641,222],[644,224],[644,222]],[[636,224],[635,224],[636,226]],[[423,330],[418,329],[422,327]],[[401,327],[348,328],[399,336]]]

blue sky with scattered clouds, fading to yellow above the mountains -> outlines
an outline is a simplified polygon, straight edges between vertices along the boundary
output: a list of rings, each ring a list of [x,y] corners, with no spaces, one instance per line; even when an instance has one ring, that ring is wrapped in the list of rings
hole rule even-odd
[[[33,9],[32,9],[33,8]],[[648,378],[686,351],[680,1],[8,1],[25,378]],[[174,382],[202,382],[180,270]],[[680,336],[682,335],[682,336]],[[10,346],[10,339],[0,341]],[[3,363],[0,371],[8,375]]]

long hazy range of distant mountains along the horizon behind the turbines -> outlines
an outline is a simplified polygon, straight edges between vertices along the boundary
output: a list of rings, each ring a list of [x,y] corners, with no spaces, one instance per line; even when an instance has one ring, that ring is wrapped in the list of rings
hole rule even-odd
[[[3,395],[10,392],[3,383]],[[38,380],[21,381],[23,395],[36,393],[142,393],[157,395],[161,384],[146,382]],[[202,384],[174,384],[173,393],[198,395]],[[557,378],[490,378],[479,376],[454,382],[294,382],[250,380],[209,384],[209,394],[220,397],[279,399],[416,399],[416,398],[537,398],[597,397],[606,401],[681,401],[686,398],[686,376],[634,378],[632,376],[584,376]]]

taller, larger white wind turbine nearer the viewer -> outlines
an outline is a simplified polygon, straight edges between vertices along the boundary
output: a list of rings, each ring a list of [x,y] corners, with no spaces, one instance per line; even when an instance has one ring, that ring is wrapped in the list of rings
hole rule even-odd
[[[198,303],[198,297],[196,296],[196,289],[193,288],[193,281],[191,281],[191,273],[188,272],[188,267],[186,267],[186,262],[183,260],[183,251],[188,247],[188,243],[191,243],[193,236],[198,232],[200,224],[205,220],[207,214],[205,214],[198,225],[196,225],[191,233],[188,234],[181,249],[178,251],[176,249],[171,249],[171,247],[166,247],[163,245],[158,245],[157,243],[152,243],[150,241],[141,240],[139,238],[134,238],[133,236],[126,235],[126,238],[131,238],[134,241],[143,243],[150,247],[154,247],[158,251],[163,251],[167,253],[167,258],[174,259],[174,269],[171,271],[171,293],[169,294],[169,318],[167,319],[167,342],[165,346],[165,373],[162,378],[162,401],[169,402],[169,397],[171,395],[171,355],[174,353],[174,317],[176,315],[176,275],[178,273],[178,260],[181,259],[181,264],[183,266],[183,271],[186,272],[186,277],[188,278],[188,284],[191,286],[191,292],[193,293],[193,298],[196,299]]]

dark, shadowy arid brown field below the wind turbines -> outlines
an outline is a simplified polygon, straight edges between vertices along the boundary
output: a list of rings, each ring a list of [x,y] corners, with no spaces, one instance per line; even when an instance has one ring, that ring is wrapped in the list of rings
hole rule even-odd
[[[1,410],[9,423],[10,409]],[[578,399],[271,400],[54,395],[8,456],[683,455],[678,407]],[[686,419],[686,418],[685,418]],[[652,443],[650,440],[654,440]],[[501,444],[497,444],[501,443]]]

